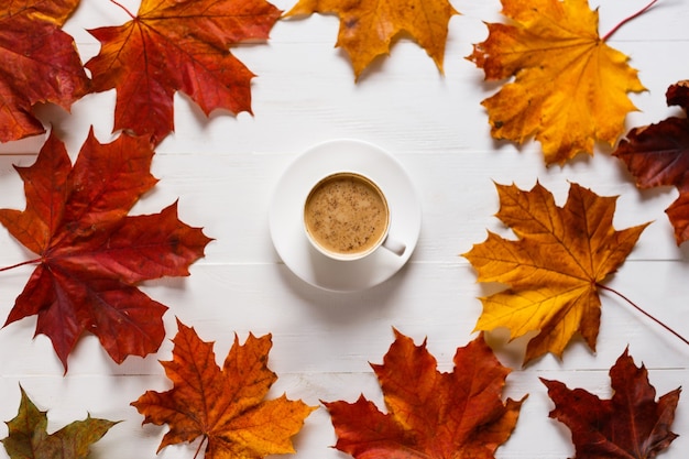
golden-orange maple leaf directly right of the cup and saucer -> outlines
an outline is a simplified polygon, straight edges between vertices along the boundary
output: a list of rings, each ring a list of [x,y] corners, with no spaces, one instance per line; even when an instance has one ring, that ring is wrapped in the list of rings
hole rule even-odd
[[[506,327],[511,338],[538,331],[528,342],[525,363],[546,352],[561,357],[577,332],[595,350],[598,288],[624,262],[648,223],[614,230],[616,197],[601,197],[577,184],[571,184],[564,207],[538,183],[531,192],[496,187],[496,217],[518,240],[489,231],[485,242],[463,254],[480,282],[510,286],[481,298],[483,313],[475,328]]]

